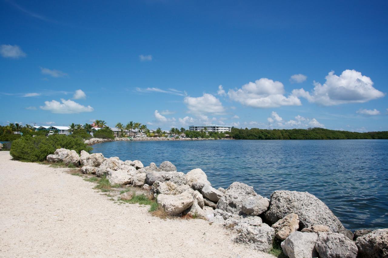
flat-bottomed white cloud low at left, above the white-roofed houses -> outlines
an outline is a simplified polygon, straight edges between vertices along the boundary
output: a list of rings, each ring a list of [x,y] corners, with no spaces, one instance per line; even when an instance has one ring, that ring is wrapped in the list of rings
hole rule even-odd
[[[81,112],[92,112],[94,108],[91,106],[83,106],[79,103],[76,103],[70,99],[61,99],[61,102],[56,100],[45,101],[44,106],[40,106],[43,110],[49,110],[51,113],[59,113],[59,114],[73,114],[73,113],[81,113]]]

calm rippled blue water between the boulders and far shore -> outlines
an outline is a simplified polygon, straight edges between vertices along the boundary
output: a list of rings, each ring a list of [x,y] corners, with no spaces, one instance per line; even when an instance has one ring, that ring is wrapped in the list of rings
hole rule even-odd
[[[199,167],[216,188],[240,181],[265,197],[307,191],[346,228],[388,228],[388,140],[113,141],[93,148],[145,166],[170,160],[184,173]]]

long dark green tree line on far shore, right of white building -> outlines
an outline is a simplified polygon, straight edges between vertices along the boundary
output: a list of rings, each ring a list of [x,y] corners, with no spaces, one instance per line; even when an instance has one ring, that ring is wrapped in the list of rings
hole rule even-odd
[[[308,129],[238,129],[232,127],[234,139],[251,140],[326,140],[326,139],[388,139],[385,132],[348,132],[334,131],[324,128]]]

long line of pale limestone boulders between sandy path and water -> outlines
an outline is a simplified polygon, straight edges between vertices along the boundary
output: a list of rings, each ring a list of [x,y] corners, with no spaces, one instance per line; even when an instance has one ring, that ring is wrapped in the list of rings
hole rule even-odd
[[[170,216],[189,214],[236,232],[233,241],[270,251],[274,241],[290,258],[388,257],[388,229],[347,230],[321,200],[308,192],[275,191],[270,199],[240,182],[214,188],[200,169],[178,172],[169,161],[144,166],[139,160],[106,158],[102,153],[78,155],[57,149],[49,162],[81,167],[109,182],[149,191]],[[123,194],[122,198],[126,198]]]

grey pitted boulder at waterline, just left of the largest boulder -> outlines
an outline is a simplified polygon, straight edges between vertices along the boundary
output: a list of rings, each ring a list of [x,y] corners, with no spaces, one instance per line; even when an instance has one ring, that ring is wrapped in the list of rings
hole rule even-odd
[[[244,183],[234,182],[226,189],[225,194],[220,200],[218,200],[216,208],[233,214],[241,214],[242,202],[256,195],[253,187]]]

